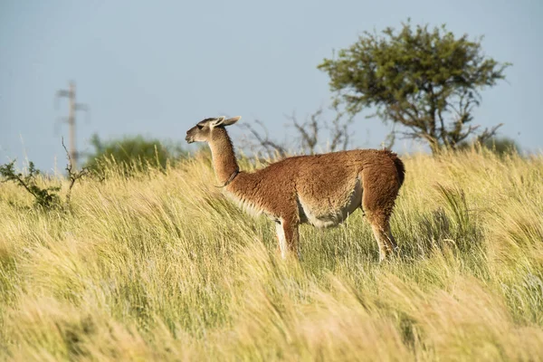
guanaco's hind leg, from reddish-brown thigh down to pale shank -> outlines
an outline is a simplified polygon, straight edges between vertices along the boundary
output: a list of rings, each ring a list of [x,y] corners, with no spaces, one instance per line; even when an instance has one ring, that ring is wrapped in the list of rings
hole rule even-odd
[[[390,216],[400,188],[395,172],[392,167],[362,171],[362,207],[379,245],[380,262],[392,255],[397,248],[390,231]]]

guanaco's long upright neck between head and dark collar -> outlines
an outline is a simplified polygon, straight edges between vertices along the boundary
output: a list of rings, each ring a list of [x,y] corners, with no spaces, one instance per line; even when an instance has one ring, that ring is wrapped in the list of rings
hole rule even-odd
[[[232,140],[226,129],[217,128],[213,131],[211,142],[211,155],[213,156],[213,167],[215,177],[221,186],[232,181],[231,177],[239,171],[235,153],[233,152]]]

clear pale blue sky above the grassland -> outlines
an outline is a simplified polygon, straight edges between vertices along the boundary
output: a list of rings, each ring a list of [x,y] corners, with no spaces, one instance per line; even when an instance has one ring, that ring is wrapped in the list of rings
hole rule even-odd
[[[285,113],[329,102],[316,66],[366,30],[446,23],[485,35],[483,49],[513,62],[507,82],[482,93],[475,123],[504,122],[523,148],[543,148],[543,2],[497,1],[38,1],[0,0],[0,163],[28,157],[62,170],[56,90],[77,82],[80,151],[90,135],[182,140],[205,117],[261,119],[283,138]],[[242,135],[235,128],[236,137]],[[359,117],[353,147],[378,147],[387,129]],[[398,151],[410,148],[396,145]]]

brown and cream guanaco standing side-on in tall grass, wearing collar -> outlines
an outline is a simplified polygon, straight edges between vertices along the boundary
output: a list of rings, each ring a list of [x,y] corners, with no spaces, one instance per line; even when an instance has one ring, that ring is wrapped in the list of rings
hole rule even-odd
[[[252,173],[237,173],[232,141],[224,126],[238,119],[205,119],[187,131],[186,139],[209,143],[215,175],[221,185],[228,184],[224,187],[227,195],[278,223],[283,256],[287,249],[299,252],[300,224],[334,226],[358,207],[372,225],[380,259],[395,250],[389,221],[405,177],[404,164],[395,153],[357,149],[289,157]]]

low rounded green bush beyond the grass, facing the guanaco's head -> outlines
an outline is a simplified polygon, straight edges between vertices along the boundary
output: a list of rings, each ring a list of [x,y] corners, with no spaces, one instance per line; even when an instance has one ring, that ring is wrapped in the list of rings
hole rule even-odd
[[[90,139],[90,144],[94,147],[94,152],[88,155],[85,167],[100,173],[108,160],[115,160],[125,171],[128,171],[127,167],[143,170],[148,165],[165,168],[168,159],[180,157],[184,153],[178,146],[168,147],[158,139],[142,136],[104,142],[95,134]]]

